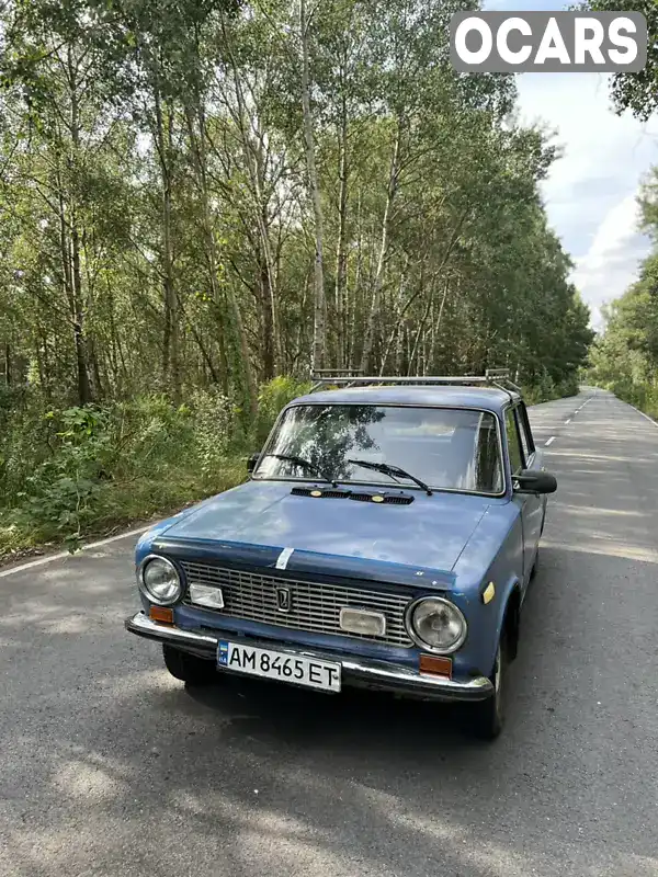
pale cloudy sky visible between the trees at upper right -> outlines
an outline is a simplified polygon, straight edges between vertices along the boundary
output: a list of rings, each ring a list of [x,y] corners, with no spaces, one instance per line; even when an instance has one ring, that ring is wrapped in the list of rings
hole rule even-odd
[[[487,10],[559,10],[560,0],[485,0]],[[615,114],[602,73],[522,73],[524,123],[555,130],[563,157],[543,184],[551,225],[576,263],[572,281],[601,328],[600,308],[637,277],[649,240],[638,231],[637,194],[658,164],[658,119]]]

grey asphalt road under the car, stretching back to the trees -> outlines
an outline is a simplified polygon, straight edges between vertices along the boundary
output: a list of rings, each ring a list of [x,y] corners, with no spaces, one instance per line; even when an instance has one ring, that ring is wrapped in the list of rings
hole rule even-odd
[[[386,696],[186,691],[124,633],[135,537],[0,574],[0,875],[658,875],[658,428],[600,390],[532,420],[559,492],[494,744]]]

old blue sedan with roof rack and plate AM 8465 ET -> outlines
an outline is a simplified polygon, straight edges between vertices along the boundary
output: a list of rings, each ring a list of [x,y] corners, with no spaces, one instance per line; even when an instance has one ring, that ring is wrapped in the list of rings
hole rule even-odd
[[[472,702],[495,738],[556,489],[518,388],[498,372],[328,377],[248,469],[141,536],[127,629],[190,684],[237,673]]]

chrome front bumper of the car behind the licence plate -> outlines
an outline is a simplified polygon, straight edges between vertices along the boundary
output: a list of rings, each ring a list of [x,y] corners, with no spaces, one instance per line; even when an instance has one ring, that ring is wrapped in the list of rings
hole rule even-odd
[[[147,639],[157,639],[169,646],[175,646],[182,651],[196,654],[200,658],[216,660],[217,642],[220,636],[207,630],[183,630],[168,624],[151,620],[144,612],[138,612],[125,620],[126,629]],[[421,675],[401,664],[390,664],[384,661],[374,661],[370,658],[345,658],[336,652],[317,651],[304,647],[293,648],[271,640],[259,640],[252,637],[246,639],[235,634],[226,633],[226,639],[231,642],[243,642],[265,649],[275,649],[285,654],[303,654],[306,658],[317,658],[325,661],[338,661],[342,668],[342,683],[347,686],[377,688],[381,691],[407,694],[432,701],[484,701],[494,694],[494,686],[486,676],[457,681],[442,676]],[[230,672],[230,671],[222,671]]]

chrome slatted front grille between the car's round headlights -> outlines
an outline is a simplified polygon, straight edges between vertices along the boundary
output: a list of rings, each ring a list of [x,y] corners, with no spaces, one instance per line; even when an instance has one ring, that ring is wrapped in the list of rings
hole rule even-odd
[[[315,634],[337,634],[402,648],[411,648],[413,645],[405,627],[405,610],[410,596],[368,591],[353,585],[305,582],[258,572],[241,572],[192,561],[183,561],[181,566],[188,584],[215,585],[222,589],[224,608],[209,610],[219,615]],[[277,608],[277,588],[290,590],[288,612]],[[192,605],[189,595],[184,602]],[[384,636],[347,634],[342,630],[340,611],[345,606],[383,613],[386,617]]]

